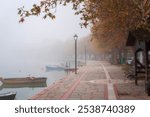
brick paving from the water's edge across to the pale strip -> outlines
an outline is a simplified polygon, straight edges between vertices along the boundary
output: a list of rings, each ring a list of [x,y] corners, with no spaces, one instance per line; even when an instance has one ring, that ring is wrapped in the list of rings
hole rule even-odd
[[[98,61],[88,62],[77,74],[71,73],[30,99],[99,100],[107,99],[105,73]]]

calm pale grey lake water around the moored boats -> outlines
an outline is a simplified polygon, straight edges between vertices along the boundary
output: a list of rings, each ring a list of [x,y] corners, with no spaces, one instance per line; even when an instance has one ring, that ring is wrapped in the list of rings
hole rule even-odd
[[[81,60],[80,60],[81,61]],[[48,85],[62,79],[68,75],[65,71],[49,71],[46,72],[45,66],[46,65],[58,65],[64,64],[65,66],[70,66],[70,68],[74,67],[73,60],[60,60],[59,62],[35,62],[35,61],[28,61],[27,63],[20,63],[14,64],[13,62],[10,63],[1,63],[0,65],[0,77],[3,78],[17,78],[17,77],[47,77],[46,85],[40,84],[35,86],[35,84],[30,86],[24,85],[15,85],[15,86],[0,86],[0,94],[6,93],[9,91],[17,92],[16,100],[26,100],[32,97],[33,95],[37,94],[38,92],[42,91]],[[80,63],[81,64],[81,63]],[[79,65],[79,63],[78,63]]]

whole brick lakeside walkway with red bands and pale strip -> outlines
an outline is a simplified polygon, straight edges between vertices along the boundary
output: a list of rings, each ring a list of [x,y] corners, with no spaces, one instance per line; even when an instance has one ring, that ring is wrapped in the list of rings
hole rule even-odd
[[[78,74],[71,73],[43,91],[34,95],[33,100],[116,100],[129,99],[120,95],[122,87],[130,81],[125,80],[117,66],[107,62],[90,61],[81,67]],[[120,86],[121,85],[121,86]],[[135,86],[135,85],[134,85]],[[126,88],[124,88],[126,89]],[[130,89],[131,90],[131,89]],[[136,90],[135,90],[136,91]],[[147,97],[147,96],[146,96]]]

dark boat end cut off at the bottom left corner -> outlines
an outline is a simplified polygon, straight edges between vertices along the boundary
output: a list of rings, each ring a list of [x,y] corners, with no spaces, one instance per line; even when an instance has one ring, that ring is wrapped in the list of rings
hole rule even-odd
[[[14,100],[16,96],[16,92],[7,92],[0,94],[0,100]]]

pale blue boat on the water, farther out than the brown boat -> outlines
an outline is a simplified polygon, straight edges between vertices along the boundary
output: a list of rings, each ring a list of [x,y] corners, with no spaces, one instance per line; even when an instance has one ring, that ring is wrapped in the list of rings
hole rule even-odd
[[[48,71],[63,71],[64,67],[61,65],[46,65],[46,72]]]

